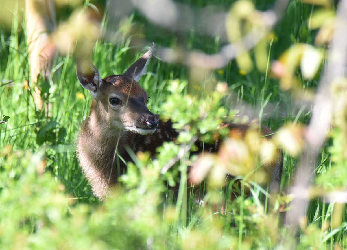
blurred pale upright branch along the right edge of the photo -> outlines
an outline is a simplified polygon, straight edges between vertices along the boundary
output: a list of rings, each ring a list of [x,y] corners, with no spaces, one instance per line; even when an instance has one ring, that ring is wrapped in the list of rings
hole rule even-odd
[[[320,148],[325,142],[332,118],[332,103],[330,97],[330,84],[346,73],[347,39],[345,31],[347,28],[347,0],[341,0],[337,11],[337,23],[328,53],[323,77],[315,97],[313,114],[310,125],[305,133],[306,147],[303,151],[301,161],[298,164],[294,186],[291,192],[294,200],[291,209],[286,214],[286,224],[289,225],[293,234],[298,229],[299,220],[306,215],[308,195],[303,195],[303,190],[311,186],[314,174],[315,161],[319,155]]]

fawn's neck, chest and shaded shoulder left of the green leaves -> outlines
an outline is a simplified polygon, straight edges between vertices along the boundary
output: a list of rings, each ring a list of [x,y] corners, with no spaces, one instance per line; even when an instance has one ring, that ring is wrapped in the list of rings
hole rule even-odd
[[[154,155],[157,147],[165,141],[172,141],[178,133],[172,129],[170,120],[159,122],[156,132],[150,135],[119,130],[98,133],[103,126],[92,118],[96,117],[95,113],[92,105],[91,115],[85,120],[78,136],[77,156],[94,195],[103,199],[107,196],[109,187],[126,171],[126,165],[122,161],[118,164],[116,162],[116,147],[118,155],[128,162],[132,159],[126,147],[134,152],[149,151]]]

